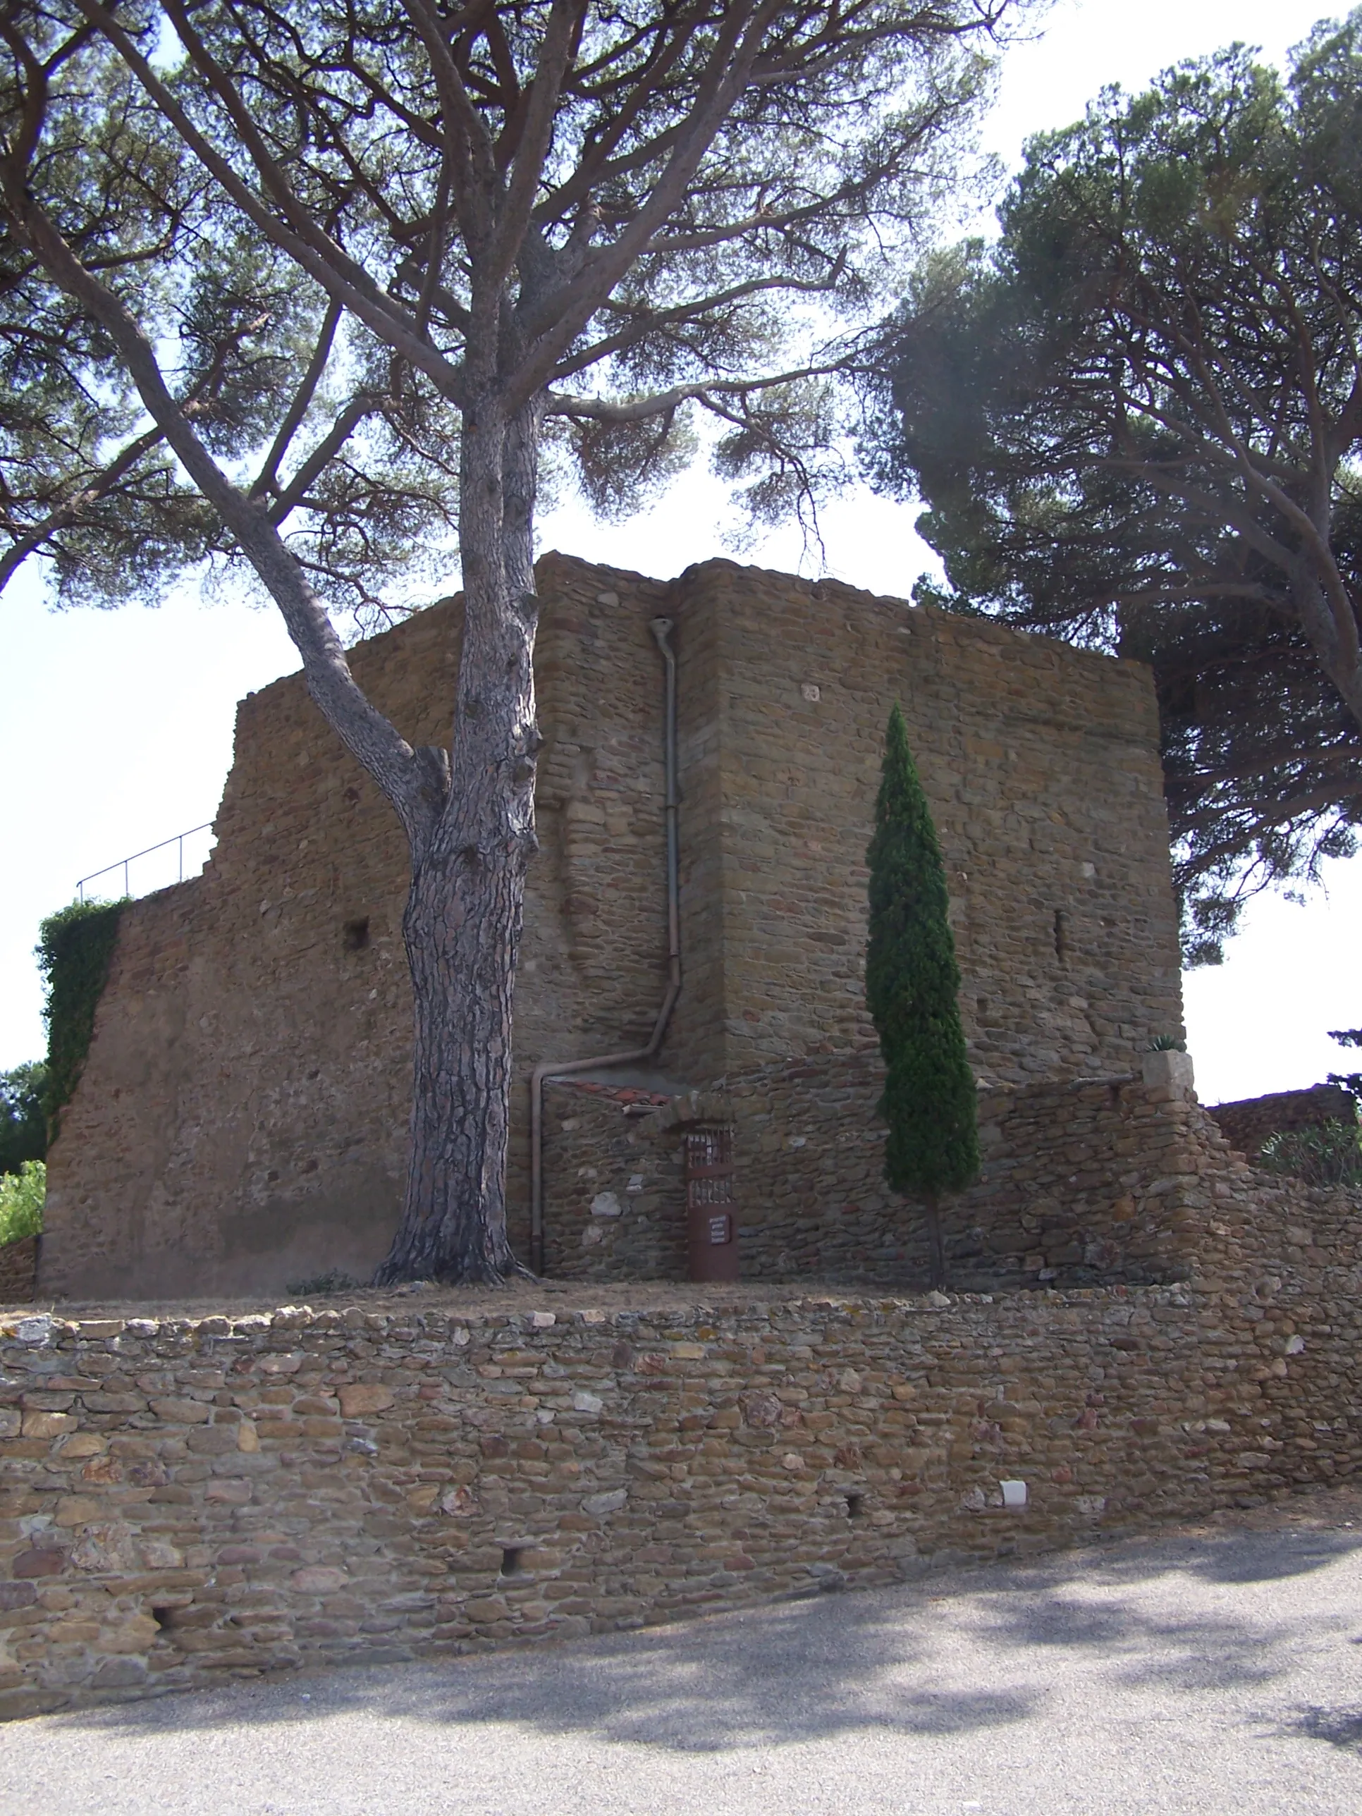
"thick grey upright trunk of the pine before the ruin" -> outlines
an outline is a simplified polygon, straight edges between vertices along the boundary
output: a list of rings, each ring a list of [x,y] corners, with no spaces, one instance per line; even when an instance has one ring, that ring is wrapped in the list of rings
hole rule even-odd
[[[416,1053],[407,1197],[376,1284],[496,1284],[507,1240],[512,990],[536,848],[532,508],[541,409],[463,434],[463,652],[443,812],[403,919]]]

